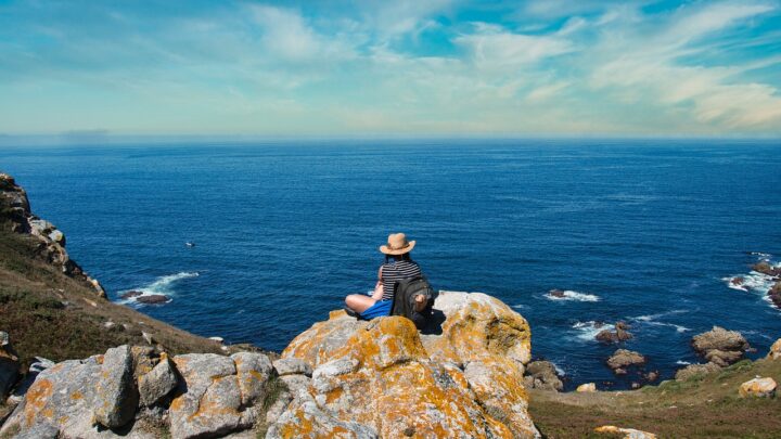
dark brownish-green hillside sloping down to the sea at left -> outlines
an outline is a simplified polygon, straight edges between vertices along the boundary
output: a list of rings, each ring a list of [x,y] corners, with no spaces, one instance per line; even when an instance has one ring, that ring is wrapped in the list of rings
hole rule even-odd
[[[98,297],[36,256],[37,240],[0,224],[0,331],[23,364],[33,357],[81,359],[124,345],[146,345],[142,331],[170,353],[221,352],[219,344]],[[106,328],[106,322],[114,326]]]

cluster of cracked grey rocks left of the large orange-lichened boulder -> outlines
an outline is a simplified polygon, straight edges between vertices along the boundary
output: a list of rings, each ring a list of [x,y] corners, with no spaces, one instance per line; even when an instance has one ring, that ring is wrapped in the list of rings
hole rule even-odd
[[[177,356],[120,346],[38,374],[0,437],[219,437],[264,421],[276,372],[263,353]]]

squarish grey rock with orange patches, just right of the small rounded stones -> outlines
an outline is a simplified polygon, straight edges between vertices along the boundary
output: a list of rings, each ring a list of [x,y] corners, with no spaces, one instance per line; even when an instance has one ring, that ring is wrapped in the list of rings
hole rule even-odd
[[[231,358],[191,353],[175,357],[174,363],[183,378],[169,409],[174,439],[215,437],[252,426],[256,414],[242,412],[239,378]]]

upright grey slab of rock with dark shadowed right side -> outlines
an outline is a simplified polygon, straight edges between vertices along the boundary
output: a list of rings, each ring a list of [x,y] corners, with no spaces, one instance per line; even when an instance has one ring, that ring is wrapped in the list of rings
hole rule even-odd
[[[127,345],[108,349],[103,356],[95,388],[94,416],[105,427],[121,427],[136,413],[138,389],[132,364],[133,357]]]

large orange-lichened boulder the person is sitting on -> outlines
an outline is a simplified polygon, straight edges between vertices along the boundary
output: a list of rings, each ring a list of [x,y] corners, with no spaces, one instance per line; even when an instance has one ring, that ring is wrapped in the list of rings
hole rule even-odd
[[[526,321],[483,294],[440,293],[435,312],[441,330],[423,340],[405,318],[342,312],[296,337],[282,357],[312,378],[269,437],[539,437],[523,387]]]

